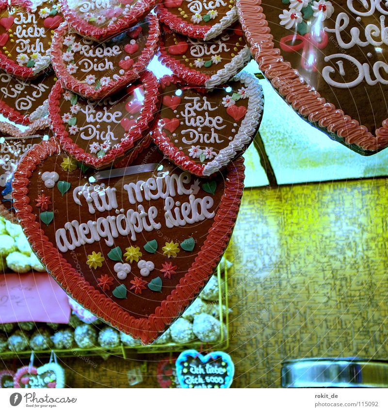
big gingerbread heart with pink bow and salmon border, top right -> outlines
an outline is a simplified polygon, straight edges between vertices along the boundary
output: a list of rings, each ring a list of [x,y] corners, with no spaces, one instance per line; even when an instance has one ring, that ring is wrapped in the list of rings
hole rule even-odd
[[[260,69],[300,115],[362,154],[388,146],[387,4],[238,0]]]

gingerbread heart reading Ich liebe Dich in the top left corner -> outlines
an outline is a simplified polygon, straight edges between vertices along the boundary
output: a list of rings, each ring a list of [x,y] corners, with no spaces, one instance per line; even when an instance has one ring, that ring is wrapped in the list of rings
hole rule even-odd
[[[63,21],[51,1],[0,2],[0,67],[23,79],[32,79],[51,63],[51,37]]]

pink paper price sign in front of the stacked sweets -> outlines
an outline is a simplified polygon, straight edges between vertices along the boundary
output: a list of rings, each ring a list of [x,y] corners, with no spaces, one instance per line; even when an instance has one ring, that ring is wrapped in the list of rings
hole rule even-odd
[[[47,273],[0,274],[0,323],[68,323],[68,297]]]

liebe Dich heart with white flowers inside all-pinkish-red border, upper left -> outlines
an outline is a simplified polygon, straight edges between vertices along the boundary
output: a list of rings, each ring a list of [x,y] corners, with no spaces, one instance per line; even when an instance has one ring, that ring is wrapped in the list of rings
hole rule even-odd
[[[82,96],[101,99],[138,79],[159,43],[159,22],[150,15],[132,38],[122,33],[103,43],[71,33],[66,23],[54,33],[52,65],[62,84]]]

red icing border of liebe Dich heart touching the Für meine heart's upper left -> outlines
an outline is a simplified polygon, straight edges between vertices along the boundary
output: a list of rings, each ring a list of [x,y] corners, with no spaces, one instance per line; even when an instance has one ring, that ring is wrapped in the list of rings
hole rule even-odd
[[[146,97],[144,99],[142,113],[136,125],[130,130],[130,137],[127,137],[121,142],[119,148],[113,148],[105,156],[100,158],[86,153],[84,149],[80,148],[74,140],[69,137],[61,115],[61,99],[64,89],[60,82],[56,82],[49,95],[49,118],[52,131],[59,140],[62,148],[74,156],[79,162],[84,162],[86,165],[96,169],[110,165],[124,156],[129,149],[133,148],[134,143],[141,139],[149,130],[160,107],[161,96],[158,79],[150,71],[146,70],[141,76],[140,81],[143,83]]]

